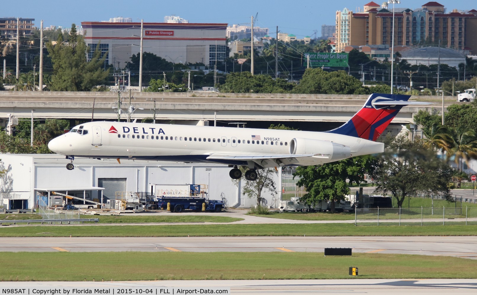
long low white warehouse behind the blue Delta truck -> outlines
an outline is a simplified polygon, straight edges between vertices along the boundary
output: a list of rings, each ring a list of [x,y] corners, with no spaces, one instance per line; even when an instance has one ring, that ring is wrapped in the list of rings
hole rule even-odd
[[[116,192],[151,193],[150,184],[208,185],[210,199],[223,200],[227,207],[255,206],[256,198],[244,196],[222,164],[185,164],[144,160],[75,158],[74,169],[67,170],[68,159],[50,154],[0,154],[0,169],[7,173],[0,179],[0,198],[13,199],[14,209],[31,209],[39,196],[57,191],[73,196],[97,198],[103,203]],[[264,205],[278,207],[281,198],[281,169],[275,179],[277,195],[262,192]],[[3,204],[3,201],[0,200]]]

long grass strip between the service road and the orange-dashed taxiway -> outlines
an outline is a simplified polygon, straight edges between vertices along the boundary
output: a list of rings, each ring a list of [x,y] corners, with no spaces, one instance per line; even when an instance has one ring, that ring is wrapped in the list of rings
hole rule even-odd
[[[447,223],[450,224],[450,223]],[[174,226],[1,226],[7,236],[475,236],[477,225],[227,224]],[[364,226],[366,225],[366,226]]]

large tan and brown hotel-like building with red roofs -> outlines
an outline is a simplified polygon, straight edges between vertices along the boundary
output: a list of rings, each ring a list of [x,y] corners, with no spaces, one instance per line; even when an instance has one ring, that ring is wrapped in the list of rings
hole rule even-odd
[[[404,5],[403,3],[400,5]],[[446,13],[435,1],[417,9],[394,9],[395,46],[437,44],[468,53],[477,51],[477,10]],[[346,46],[391,45],[393,9],[387,2],[365,4],[358,13],[344,8],[336,11],[336,50]]]

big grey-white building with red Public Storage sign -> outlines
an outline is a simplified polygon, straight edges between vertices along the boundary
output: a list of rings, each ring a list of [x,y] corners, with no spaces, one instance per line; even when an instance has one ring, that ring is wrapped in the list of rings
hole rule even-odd
[[[83,21],[81,25],[92,50],[89,58],[99,45],[106,64],[123,68],[140,51],[140,22]],[[223,23],[143,23],[143,52],[173,63],[213,65],[216,59],[225,60],[226,30]]]

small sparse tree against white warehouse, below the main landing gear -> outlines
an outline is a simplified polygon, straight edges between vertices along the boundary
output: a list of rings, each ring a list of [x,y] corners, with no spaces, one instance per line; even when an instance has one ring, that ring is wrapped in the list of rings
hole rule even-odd
[[[274,177],[278,175],[278,171],[275,170],[275,168],[255,170],[257,173],[257,180],[245,179],[245,169],[243,167],[240,167],[239,169],[242,171],[241,183],[243,195],[249,198],[255,198],[258,206],[261,206],[262,204],[263,192],[269,191],[272,195],[277,195],[277,185]],[[236,186],[239,186],[240,179],[232,179],[232,182],[234,182]]]

